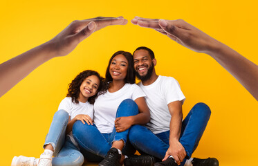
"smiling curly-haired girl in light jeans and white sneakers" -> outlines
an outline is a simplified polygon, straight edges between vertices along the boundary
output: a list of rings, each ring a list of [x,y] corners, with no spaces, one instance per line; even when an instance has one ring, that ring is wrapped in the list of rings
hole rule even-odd
[[[104,78],[99,73],[88,70],[77,75],[69,84],[68,94],[54,115],[44,143],[44,153],[38,159],[15,156],[11,165],[82,165],[84,157],[73,138],[72,127],[77,120],[83,124],[93,124],[93,103],[104,89],[107,89]],[[52,160],[52,156],[56,157]]]

